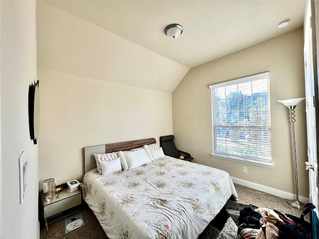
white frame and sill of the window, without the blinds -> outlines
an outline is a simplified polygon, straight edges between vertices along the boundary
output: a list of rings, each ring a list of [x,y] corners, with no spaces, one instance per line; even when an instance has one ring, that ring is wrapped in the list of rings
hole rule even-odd
[[[241,84],[241,83],[245,83],[245,82],[253,82],[256,80],[262,80],[267,78],[267,109],[268,109],[268,122],[269,124],[267,126],[257,126],[257,128],[268,128],[269,134],[270,134],[270,139],[269,139],[269,149],[270,149],[270,158],[269,159],[263,159],[263,158],[252,158],[252,157],[246,157],[243,155],[236,155],[236,154],[232,154],[230,152],[227,153],[222,153],[222,152],[216,152],[215,151],[215,147],[217,147],[217,145],[215,145],[215,89],[216,88],[221,88],[221,87],[226,87],[226,86],[233,86],[233,85],[237,85]],[[261,74],[256,74],[256,75],[252,75],[252,76],[247,76],[247,77],[243,77],[243,78],[239,78],[239,79],[234,79],[234,80],[230,80],[230,81],[226,81],[226,82],[222,82],[222,83],[217,83],[214,85],[210,85],[209,89],[210,89],[210,95],[211,95],[211,122],[212,122],[212,153],[211,156],[212,157],[216,157],[216,158],[222,158],[222,159],[227,159],[227,160],[232,160],[232,161],[237,161],[237,162],[244,162],[244,163],[249,163],[249,164],[254,164],[254,165],[259,165],[259,166],[264,166],[264,167],[270,167],[273,168],[274,164],[272,163],[272,150],[271,150],[271,116],[270,116],[270,72],[264,72]],[[240,111],[237,111],[238,113]],[[231,128],[231,124],[227,125],[227,128]],[[247,128],[246,125],[237,125],[236,127],[239,128]],[[249,127],[249,126],[248,126]],[[250,125],[250,127],[256,127],[255,125]]]

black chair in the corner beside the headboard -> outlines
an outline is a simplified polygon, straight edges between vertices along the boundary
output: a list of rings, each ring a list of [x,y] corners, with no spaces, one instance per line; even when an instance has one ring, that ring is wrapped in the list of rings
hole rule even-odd
[[[171,156],[173,158],[179,158],[180,156],[184,156],[183,160],[189,162],[193,160],[193,157],[191,157],[189,153],[178,150],[173,140],[174,135],[160,136],[160,147],[162,147],[164,154]]]

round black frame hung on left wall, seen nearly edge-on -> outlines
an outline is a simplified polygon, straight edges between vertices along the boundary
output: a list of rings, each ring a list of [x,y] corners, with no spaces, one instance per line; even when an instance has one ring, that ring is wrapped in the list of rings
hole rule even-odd
[[[29,86],[28,109],[30,138],[33,140],[34,144],[37,144],[40,118],[39,81],[36,81]]]

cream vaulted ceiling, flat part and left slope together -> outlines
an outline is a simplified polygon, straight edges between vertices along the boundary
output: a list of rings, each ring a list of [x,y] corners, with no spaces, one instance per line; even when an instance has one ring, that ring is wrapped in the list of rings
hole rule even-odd
[[[49,0],[45,3],[49,4],[46,6],[38,4],[40,8],[37,7],[40,67],[51,67],[51,70],[76,73],[84,77],[172,92],[192,67],[303,27],[307,1]],[[50,9],[47,5],[50,5],[51,8],[54,6],[54,9]],[[62,12],[63,20],[59,21]],[[74,17],[78,19],[77,24],[70,23],[74,21]],[[289,25],[278,28],[278,22],[284,19],[290,19]],[[79,21],[82,21],[84,25],[91,24],[90,30],[82,31]],[[165,27],[171,23],[181,24],[184,28],[183,33],[176,39],[169,38],[164,33]],[[92,30],[94,27],[97,29]],[[101,41],[102,33],[96,34],[97,31],[101,31],[100,29],[104,29],[109,35],[115,35],[112,36],[112,41],[123,43],[121,45],[118,45],[118,42],[114,43],[112,49],[107,49],[107,46],[101,47],[101,44],[104,44]],[[79,36],[82,36],[81,40]],[[95,45],[100,44],[100,46],[97,48],[92,46],[94,41],[93,39],[87,40],[88,37],[96,37]],[[106,38],[110,41],[109,36]],[[64,43],[61,42],[63,40]],[[85,47],[86,43],[90,44],[90,47]],[[51,51],[47,49],[49,46],[53,47]],[[61,55],[58,56],[61,47],[67,50],[60,52]],[[81,55],[74,53],[70,48],[74,48],[74,51],[84,51],[87,57],[90,58],[91,55],[92,58],[98,58],[98,60],[97,62],[91,60],[91,64],[84,59],[81,65],[79,60]],[[123,51],[121,48],[128,49]],[[89,49],[96,50],[96,52],[92,53]],[[132,49],[135,49],[136,52],[132,53]],[[110,54],[111,51],[116,52],[117,56],[115,53]],[[73,55],[76,59],[68,55]],[[118,58],[119,55],[123,55],[121,59]],[[126,60],[124,60],[125,55],[128,56]],[[65,59],[68,59],[68,62],[75,60],[76,66],[71,65],[69,69],[64,68]],[[142,62],[136,65],[134,59]],[[60,63],[57,63],[58,61]],[[131,76],[134,77],[134,74],[137,74],[135,78],[139,80],[134,81],[140,81],[138,85],[125,80],[128,76],[121,72],[108,75],[110,73],[106,73],[106,69],[117,68],[114,66],[114,61],[117,64],[121,62],[122,70],[131,71]],[[52,62],[55,62],[54,67]],[[83,66],[88,64],[94,73],[87,74],[89,69],[87,72],[82,72],[84,71]],[[150,77],[142,80],[138,73],[141,71],[143,75]],[[166,72],[166,75],[162,75],[163,72]],[[152,79],[155,79],[155,82],[150,83]],[[162,83],[169,86],[161,88]]]

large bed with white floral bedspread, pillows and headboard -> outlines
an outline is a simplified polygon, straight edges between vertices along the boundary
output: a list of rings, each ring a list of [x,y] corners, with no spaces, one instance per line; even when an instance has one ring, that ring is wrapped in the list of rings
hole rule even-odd
[[[131,167],[130,155],[143,150],[151,161]],[[99,174],[94,154],[113,152],[131,168]],[[83,199],[109,239],[196,239],[237,198],[227,172],[161,152],[155,138],[84,148]]]

